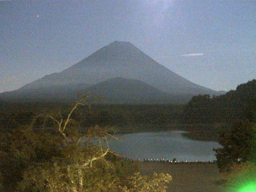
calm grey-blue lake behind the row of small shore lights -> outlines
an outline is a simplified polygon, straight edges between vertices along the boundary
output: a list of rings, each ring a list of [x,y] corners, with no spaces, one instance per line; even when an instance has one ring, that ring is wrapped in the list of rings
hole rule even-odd
[[[110,149],[131,159],[160,159],[177,161],[216,160],[212,148],[220,148],[217,142],[190,140],[182,136],[184,131],[144,132],[122,134],[111,141]]]

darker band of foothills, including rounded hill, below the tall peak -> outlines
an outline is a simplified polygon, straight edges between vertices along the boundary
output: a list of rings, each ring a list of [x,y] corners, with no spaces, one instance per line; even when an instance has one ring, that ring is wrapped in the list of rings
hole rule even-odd
[[[89,86],[88,84],[65,84],[51,87],[15,90],[0,94],[0,101],[9,102],[76,102],[83,95],[89,102],[109,104],[186,103],[192,95],[171,95],[140,80],[113,78]]]

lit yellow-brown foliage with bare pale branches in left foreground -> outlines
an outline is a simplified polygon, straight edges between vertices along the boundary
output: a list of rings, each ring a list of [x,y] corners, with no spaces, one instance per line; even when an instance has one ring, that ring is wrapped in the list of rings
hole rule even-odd
[[[56,133],[26,126],[0,135],[0,187],[26,192],[165,192],[168,174],[137,173],[136,164],[108,148],[109,130],[94,126],[80,134],[72,113],[40,115]],[[93,142],[94,141],[94,142]],[[94,143],[98,142],[98,145]]]

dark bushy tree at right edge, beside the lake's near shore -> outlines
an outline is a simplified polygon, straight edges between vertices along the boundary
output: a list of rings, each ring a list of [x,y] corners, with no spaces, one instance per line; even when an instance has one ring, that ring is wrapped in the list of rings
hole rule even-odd
[[[220,172],[229,171],[241,162],[256,161],[256,125],[249,120],[236,122],[231,130],[220,134],[219,143],[223,148],[213,149],[217,154]]]

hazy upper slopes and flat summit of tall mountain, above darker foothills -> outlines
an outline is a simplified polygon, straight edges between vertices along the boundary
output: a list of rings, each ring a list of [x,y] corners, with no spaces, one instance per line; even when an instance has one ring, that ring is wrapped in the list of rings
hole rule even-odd
[[[171,94],[215,94],[160,65],[130,42],[113,42],[84,60],[20,88],[34,89],[62,84],[97,84],[115,77],[141,80]]]

